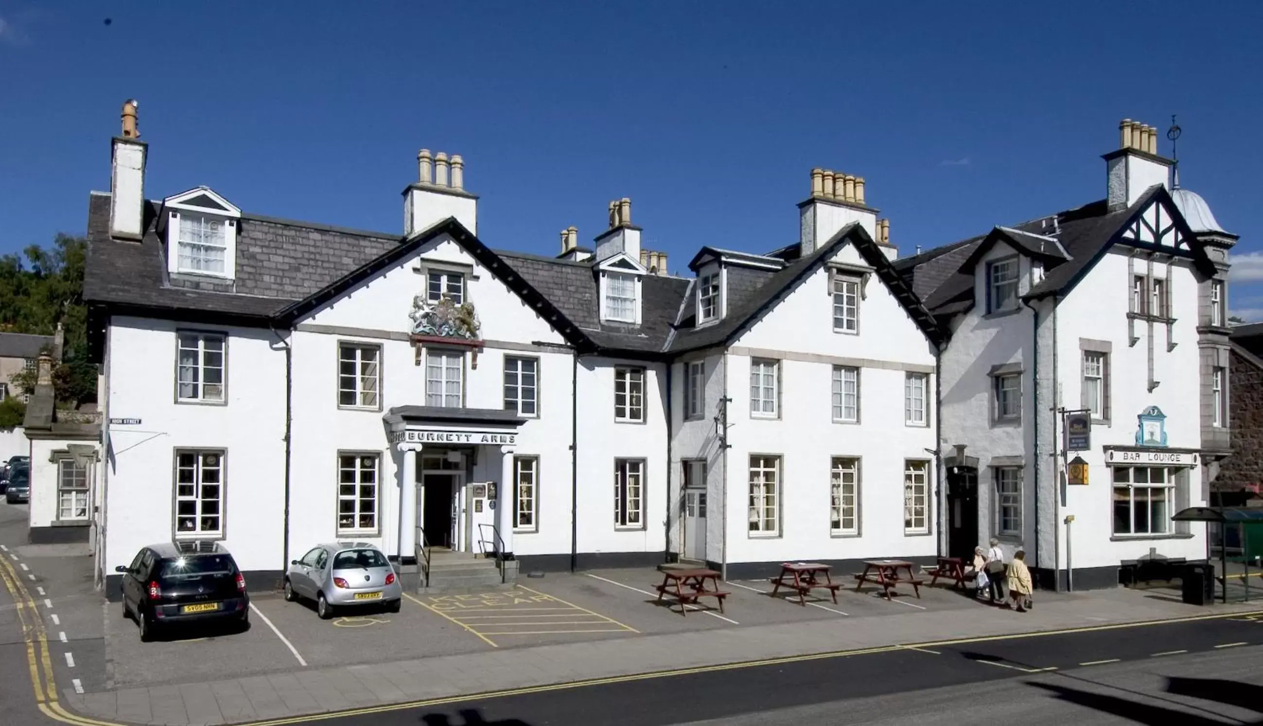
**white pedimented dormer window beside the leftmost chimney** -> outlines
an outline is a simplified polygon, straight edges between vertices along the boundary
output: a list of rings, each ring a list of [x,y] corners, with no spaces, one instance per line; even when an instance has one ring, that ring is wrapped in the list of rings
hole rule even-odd
[[[163,199],[167,270],[173,275],[235,278],[240,218],[241,210],[206,187]]]

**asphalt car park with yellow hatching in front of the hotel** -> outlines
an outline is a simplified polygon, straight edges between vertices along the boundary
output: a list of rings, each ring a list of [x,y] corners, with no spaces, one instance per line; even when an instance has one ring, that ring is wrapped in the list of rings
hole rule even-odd
[[[135,622],[111,602],[107,659],[114,686],[155,686],[640,634],[984,607],[947,587],[922,587],[919,598],[909,591],[888,601],[854,586],[841,588],[836,604],[825,593],[803,606],[783,593],[773,597],[767,580],[738,580],[720,583],[730,592],[722,614],[702,606],[685,616],[672,598],[658,600],[653,586],[661,581],[653,568],[548,574],[486,592],[405,592],[399,612],[369,605],[340,609],[330,620],[321,620],[306,600],[258,593],[251,595],[249,630],[191,629],[144,644]]]

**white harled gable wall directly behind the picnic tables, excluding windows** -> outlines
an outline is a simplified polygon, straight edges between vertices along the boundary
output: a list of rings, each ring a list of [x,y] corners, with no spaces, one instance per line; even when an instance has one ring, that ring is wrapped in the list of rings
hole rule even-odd
[[[850,246],[835,261],[863,265]],[[830,270],[820,268],[740,335],[727,355],[727,562],[932,557],[935,521],[935,351],[894,295],[873,274],[860,302],[859,335],[835,333]],[[781,352],[764,352],[781,351]],[[750,415],[750,361],[779,357],[781,410],[777,419]],[[860,423],[832,422],[832,366],[860,370]],[[904,423],[904,376],[927,372],[925,427]],[[781,533],[749,532],[749,457],[782,456]],[[860,535],[830,533],[830,477],[835,456],[860,458]],[[906,534],[906,460],[928,462],[925,534]],[[711,505],[717,513],[719,503]]]

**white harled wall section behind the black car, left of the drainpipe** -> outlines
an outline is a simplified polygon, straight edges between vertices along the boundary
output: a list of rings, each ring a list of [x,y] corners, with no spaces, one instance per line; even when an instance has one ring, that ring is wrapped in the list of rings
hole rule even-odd
[[[176,403],[176,331],[227,335],[226,404]],[[105,572],[171,542],[177,448],[225,451],[224,543],[242,569],[280,569],[284,532],[285,360],[265,330],[111,318]]]

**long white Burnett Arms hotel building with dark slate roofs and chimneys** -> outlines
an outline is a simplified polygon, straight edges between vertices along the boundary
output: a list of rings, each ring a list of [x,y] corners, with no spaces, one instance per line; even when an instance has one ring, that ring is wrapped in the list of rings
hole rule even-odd
[[[787,559],[932,562],[997,530],[986,490],[1008,467],[1021,470],[1021,524],[1004,484],[1004,534],[1039,542],[1037,563],[1051,567],[1048,371],[1060,365],[1062,394],[1077,391],[1070,371],[1084,345],[1113,356],[1101,383],[1113,434],[1096,427],[1098,449],[1084,453],[1095,457],[1092,485],[1061,510],[1079,513],[1076,543],[1089,543],[1074,567],[1116,574],[1154,537],[1191,538],[1161,542],[1190,557],[1201,545],[1183,532],[1115,545],[1118,487],[1101,484],[1111,452],[1147,451],[1125,446],[1127,419],[1144,407],[1170,417],[1170,451],[1210,448],[1199,407],[1211,379],[1188,393],[1181,376],[1226,365],[1215,362],[1211,318],[1223,314],[1223,283],[1210,282],[1223,266],[1172,196],[1148,189],[1162,183],[1139,163],[1162,165],[1153,154],[1118,154],[1130,165],[1118,174],[1111,162],[1109,206],[1094,216],[908,260],[897,259],[861,178],[816,169],[796,244],[703,247],[682,278],[642,249],[628,199],[610,203],[591,249],[573,227],[557,256],[491,249],[455,155],[418,155],[403,231],[384,234],[242,212],[196,178],[147,199],[148,148],[130,105],[112,148],[111,193],[90,196],[85,280],[102,364],[91,510],[107,585],[139,547],[169,539],[222,540],[264,586],[312,544],[351,538],[404,566],[436,550],[512,554],[509,577],[518,563],[683,558],[754,577]],[[1115,183],[1132,184],[1118,205]],[[1177,241],[1124,245],[1104,231],[1134,230],[1154,205],[1159,236],[1175,225]],[[1077,229],[1090,230],[1092,251],[1057,241]],[[978,280],[1010,259],[1018,289],[1004,288],[1002,302],[1029,304],[993,309]],[[1129,311],[1125,292],[1098,295],[1098,306],[1122,306],[1118,321],[1074,307],[1091,303],[1066,294],[1071,278],[1118,273],[1125,283],[1120,270],[1181,279],[1156,314]],[[1053,285],[1065,292],[1041,297]],[[1091,297],[1081,282],[1075,289]],[[1199,304],[1202,323],[1175,312]],[[1153,347],[1163,335],[1173,337]],[[1151,381],[1170,383],[1138,394],[1143,380],[1122,371],[1146,361]],[[993,425],[991,381],[1014,372],[1039,386],[1018,389],[1021,423],[1005,408]],[[943,518],[943,471],[973,482],[973,499],[951,489],[954,506],[974,508],[973,524]],[[1201,501],[1205,467],[1175,476],[1172,505]]]

